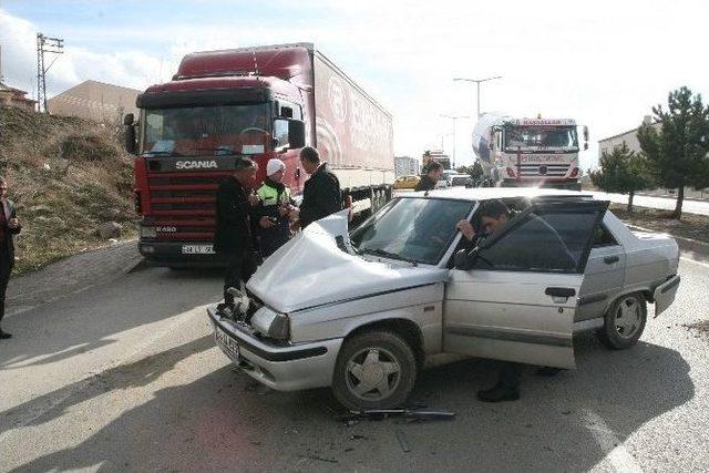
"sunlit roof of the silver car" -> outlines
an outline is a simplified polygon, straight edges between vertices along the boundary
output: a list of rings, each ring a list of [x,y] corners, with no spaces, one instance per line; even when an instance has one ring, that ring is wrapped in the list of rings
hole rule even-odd
[[[593,197],[578,191],[562,191],[540,187],[450,187],[428,192],[398,193],[398,197],[428,197],[456,200],[490,200],[492,198],[515,197]]]

